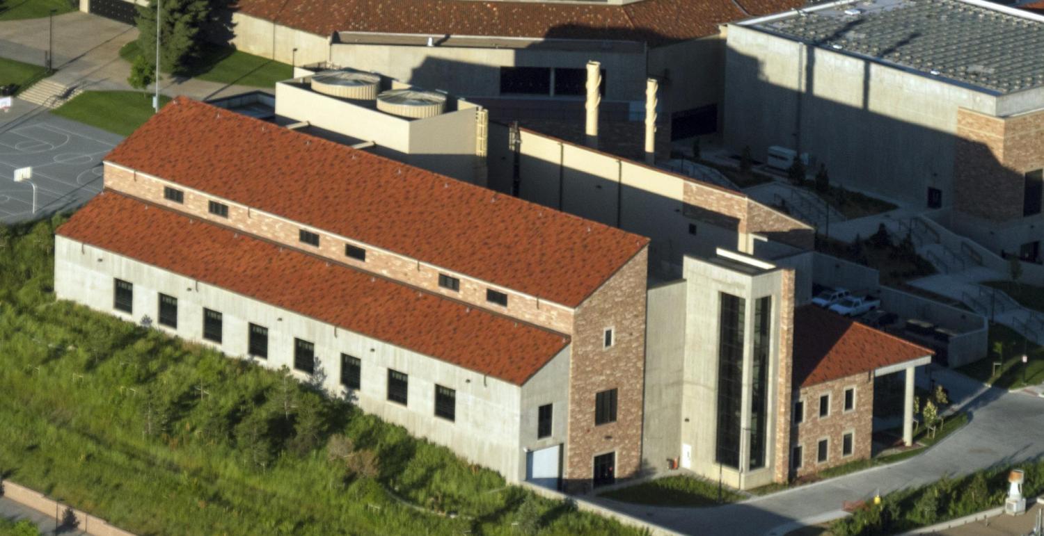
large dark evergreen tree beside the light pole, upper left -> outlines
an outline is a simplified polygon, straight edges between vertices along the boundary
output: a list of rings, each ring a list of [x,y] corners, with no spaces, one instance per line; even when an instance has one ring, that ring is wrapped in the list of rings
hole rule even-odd
[[[162,0],[160,17],[160,66],[164,72],[186,74],[199,56],[200,29],[211,17],[210,0]],[[156,66],[157,0],[138,6],[138,49],[148,65]]]

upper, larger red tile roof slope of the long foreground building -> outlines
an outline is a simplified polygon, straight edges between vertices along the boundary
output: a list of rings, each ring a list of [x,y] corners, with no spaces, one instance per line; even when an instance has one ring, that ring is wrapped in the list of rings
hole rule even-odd
[[[184,97],[105,160],[568,307],[648,244]]]

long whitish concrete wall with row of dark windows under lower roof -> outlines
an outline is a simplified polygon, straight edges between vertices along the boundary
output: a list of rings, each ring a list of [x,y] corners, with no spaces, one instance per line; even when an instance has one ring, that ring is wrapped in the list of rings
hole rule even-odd
[[[113,309],[113,277],[134,285],[134,313]],[[319,322],[290,311],[241,296],[220,288],[162,270],[129,258],[56,237],[54,291],[60,299],[69,299],[132,322],[144,316],[157,318],[158,293],[177,298],[177,330],[152,325],[192,342],[198,342],[233,356],[247,352],[247,323],[268,327],[268,358],[255,359],[261,366],[277,369],[293,368],[293,340],[300,338],[315,345],[315,356],[322,373],[312,380],[322,381],[331,393],[345,393],[363,411],[384,420],[405,427],[411,434],[452,448],[473,463],[490,467],[509,481],[524,476],[525,454],[520,443],[523,416],[530,418],[536,404],[544,397],[561,393],[562,368],[569,361],[569,348],[564,349],[545,366],[536,383],[526,386],[527,405],[522,406],[522,388],[489,377],[480,372],[423,356],[386,342],[375,340],[343,328]],[[203,338],[203,308],[223,315],[222,343],[215,345]],[[340,354],[362,360],[361,389],[346,392],[339,385]],[[409,374],[408,406],[386,400],[387,370]],[[303,372],[293,374],[310,380]],[[434,416],[435,384],[456,390],[456,420],[451,422]],[[555,400],[560,405],[564,403]],[[562,415],[565,408],[555,409]],[[549,441],[564,442],[564,430],[555,429]]]

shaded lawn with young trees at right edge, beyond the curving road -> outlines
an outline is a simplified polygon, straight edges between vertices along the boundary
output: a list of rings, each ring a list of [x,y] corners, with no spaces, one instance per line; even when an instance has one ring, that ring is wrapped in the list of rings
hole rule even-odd
[[[998,346],[999,345],[999,346]],[[1022,364],[1022,354],[1025,348],[1029,357],[1027,365]],[[1000,352],[997,350],[1000,349]],[[1001,362],[1000,369],[993,373],[993,363]],[[1011,327],[990,324],[990,356],[974,363],[969,363],[957,369],[958,372],[974,377],[979,382],[1001,389],[1018,389],[1029,385],[1044,383],[1044,348],[1033,341],[1026,341],[1022,335]],[[1023,375],[1026,381],[1023,382]]]

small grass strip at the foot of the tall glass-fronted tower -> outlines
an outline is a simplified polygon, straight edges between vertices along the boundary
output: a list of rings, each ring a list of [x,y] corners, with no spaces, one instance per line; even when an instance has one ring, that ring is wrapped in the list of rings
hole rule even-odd
[[[699,507],[719,504],[717,484],[682,474],[664,477],[598,495],[637,505]],[[721,488],[721,503],[735,503],[743,498],[746,497],[728,487]]]

